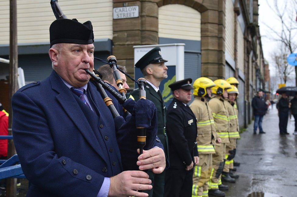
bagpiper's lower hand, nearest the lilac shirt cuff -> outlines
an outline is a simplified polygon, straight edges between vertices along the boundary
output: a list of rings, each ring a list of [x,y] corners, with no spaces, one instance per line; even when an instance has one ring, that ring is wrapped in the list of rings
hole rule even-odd
[[[136,190],[152,189],[152,181],[149,175],[142,171],[124,171],[110,177],[108,197],[147,197],[147,193]]]

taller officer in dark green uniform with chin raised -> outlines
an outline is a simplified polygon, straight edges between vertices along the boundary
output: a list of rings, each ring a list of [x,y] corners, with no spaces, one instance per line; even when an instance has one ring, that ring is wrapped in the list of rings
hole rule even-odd
[[[162,58],[161,49],[155,47],[139,59],[135,67],[141,70],[146,79],[146,99],[152,101],[157,107],[158,137],[164,146],[164,151],[168,158],[168,139],[165,130],[166,107],[162,93],[159,90],[161,81],[167,78],[165,62],[167,62],[167,60]],[[135,89],[131,92],[131,95],[135,98],[135,101],[137,101],[139,99],[139,89]],[[145,192],[149,194],[149,197],[163,197],[165,171],[162,174],[154,174],[152,171],[149,171],[148,174],[149,178],[152,180],[153,189]]]

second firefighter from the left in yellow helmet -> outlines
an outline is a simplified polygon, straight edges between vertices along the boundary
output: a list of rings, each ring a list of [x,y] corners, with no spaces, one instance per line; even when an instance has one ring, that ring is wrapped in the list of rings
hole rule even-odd
[[[221,190],[227,189],[226,185],[223,185],[221,182],[221,175],[224,168],[226,144],[230,143],[229,114],[225,107],[225,102],[227,101],[225,101],[224,98],[228,97],[227,89],[231,88],[231,85],[223,79],[215,80],[214,83],[215,86],[211,89],[215,96],[209,101],[209,106],[215,121],[216,132],[218,137],[221,138],[222,143],[215,144],[215,154],[212,155],[213,170],[211,173],[208,194],[225,196],[225,192],[219,190],[219,185]]]

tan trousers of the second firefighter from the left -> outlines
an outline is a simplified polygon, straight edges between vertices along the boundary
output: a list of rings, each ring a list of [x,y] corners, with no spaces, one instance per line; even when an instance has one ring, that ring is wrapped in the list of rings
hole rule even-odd
[[[218,189],[218,183],[224,168],[226,144],[215,144],[215,154],[212,155],[212,171],[209,180],[209,189]]]

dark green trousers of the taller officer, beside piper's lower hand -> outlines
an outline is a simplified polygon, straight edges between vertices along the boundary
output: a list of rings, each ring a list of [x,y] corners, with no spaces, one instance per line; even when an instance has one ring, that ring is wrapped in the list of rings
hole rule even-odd
[[[155,174],[151,170],[148,172],[149,179],[152,180],[153,188],[150,190],[143,190],[148,193],[149,197],[163,197],[164,196],[164,183],[165,183],[165,170],[161,174]],[[166,170],[167,173],[167,170]]]

